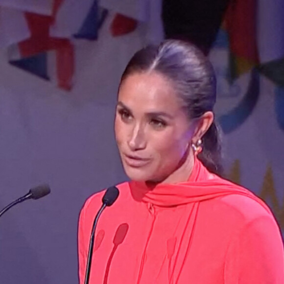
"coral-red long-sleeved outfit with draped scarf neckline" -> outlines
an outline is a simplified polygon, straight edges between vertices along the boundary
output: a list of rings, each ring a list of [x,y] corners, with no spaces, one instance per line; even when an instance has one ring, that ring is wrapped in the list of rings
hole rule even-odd
[[[198,159],[187,182],[117,188],[97,223],[90,284],[284,284],[283,240],[268,206]],[[80,284],[104,193],[79,216]]]

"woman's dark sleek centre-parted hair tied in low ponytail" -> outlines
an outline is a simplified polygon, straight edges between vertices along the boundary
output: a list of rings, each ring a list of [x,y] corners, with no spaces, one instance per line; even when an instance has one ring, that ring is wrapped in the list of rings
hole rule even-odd
[[[121,82],[135,72],[156,71],[168,78],[182,98],[189,119],[213,111],[216,101],[216,79],[206,56],[194,45],[179,40],[166,40],[159,46],[137,51],[126,66]],[[202,138],[199,160],[213,173],[221,174],[221,144],[216,122]]]

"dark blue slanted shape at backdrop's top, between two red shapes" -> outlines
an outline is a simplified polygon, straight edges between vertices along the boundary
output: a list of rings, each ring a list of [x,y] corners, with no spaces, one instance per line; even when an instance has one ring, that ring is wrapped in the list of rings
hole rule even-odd
[[[73,35],[74,38],[97,40],[98,30],[104,22],[107,13],[106,9],[98,7],[98,1],[95,0],[81,28]]]

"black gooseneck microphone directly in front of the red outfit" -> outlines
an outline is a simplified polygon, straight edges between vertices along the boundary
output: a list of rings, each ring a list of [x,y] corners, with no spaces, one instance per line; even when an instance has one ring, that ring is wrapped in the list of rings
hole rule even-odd
[[[95,220],[94,220],[93,227],[92,227],[92,233],[91,233],[90,244],[89,244],[88,260],[87,260],[87,266],[86,266],[86,274],[85,274],[85,284],[89,284],[90,271],[91,271],[91,265],[92,265],[92,256],[93,256],[93,247],[94,247],[94,240],[95,240],[95,228],[96,228],[98,218],[107,206],[112,206],[114,204],[114,202],[118,198],[118,195],[119,195],[118,188],[110,187],[106,190],[104,196],[102,197],[102,206],[95,216]]]

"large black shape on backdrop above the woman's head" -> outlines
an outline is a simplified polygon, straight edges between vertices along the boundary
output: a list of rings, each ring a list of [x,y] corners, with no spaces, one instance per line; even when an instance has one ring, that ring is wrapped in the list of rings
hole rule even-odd
[[[189,41],[206,55],[212,47],[230,0],[164,0],[166,38]]]

